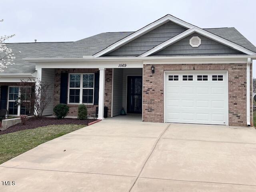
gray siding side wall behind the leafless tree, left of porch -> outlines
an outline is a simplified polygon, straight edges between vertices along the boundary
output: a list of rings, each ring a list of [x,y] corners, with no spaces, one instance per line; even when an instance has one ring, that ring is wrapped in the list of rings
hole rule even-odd
[[[42,82],[48,82],[50,84],[48,96],[52,98],[50,104],[45,108],[43,115],[53,114],[54,75],[54,69],[42,69]]]

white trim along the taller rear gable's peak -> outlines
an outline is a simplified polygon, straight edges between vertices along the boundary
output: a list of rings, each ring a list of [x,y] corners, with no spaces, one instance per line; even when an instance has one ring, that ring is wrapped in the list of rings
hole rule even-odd
[[[153,30],[154,28],[157,28],[158,26],[160,26],[160,25],[162,25],[162,24],[164,24],[165,22],[168,22],[168,21],[172,21],[172,22],[174,22],[178,25],[184,26],[185,28],[194,27],[194,25],[189,24],[185,21],[182,21],[182,20],[168,14],[168,15],[166,15],[166,16],[164,16],[164,17],[162,17],[162,18],[160,18],[160,19],[158,19],[158,20],[156,20],[156,21],[154,21],[150,24],[148,24],[147,26],[141,28],[140,30],[128,35],[127,37],[115,42],[114,44],[112,44],[109,47],[101,50],[100,52],[94,54],[93,57],[100,57],[104,54],[107,54],[108,52],[111,52],[111,51],[119,48],[120,46],[134,40],[138,36],[142,36],[143,34],[147,33],[148,31]]]

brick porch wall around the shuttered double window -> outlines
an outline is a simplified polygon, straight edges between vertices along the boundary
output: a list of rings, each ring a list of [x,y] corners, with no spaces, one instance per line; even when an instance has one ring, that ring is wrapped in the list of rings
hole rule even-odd
[[[54,78],[54,106],[60,103],[60,74],[61,73],[96,73],[98,69],[56,69]],[[105,105],[108,107],[108,117],[111,116],[112,69],[106,69],[105,74]],[[78,104],[68,104],[70,116],[77,116]],[[86,105],[88,116],[93,116],[98,105]]]

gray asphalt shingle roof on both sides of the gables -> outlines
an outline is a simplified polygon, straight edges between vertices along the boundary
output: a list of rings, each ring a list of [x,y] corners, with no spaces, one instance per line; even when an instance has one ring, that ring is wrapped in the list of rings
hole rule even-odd
[[[256,47],[233,27],[207,28],[204,30],[256,52]],[[79,58],[85,55],[93,55],[132,33],[106,32],[75,42],[10,43],[8,47],[12,48],[15,54],[15,65],[8,66],[4,69],[4,73],[35,72],[35,64],[24,62],[22,58]]]

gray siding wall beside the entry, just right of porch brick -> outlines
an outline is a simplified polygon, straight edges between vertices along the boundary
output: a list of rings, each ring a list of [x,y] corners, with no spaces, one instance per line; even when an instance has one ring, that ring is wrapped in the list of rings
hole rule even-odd
[[[112,116],[120,115],[122,109],[123,70],[113,68]]]

